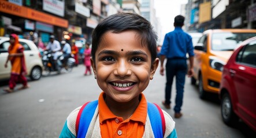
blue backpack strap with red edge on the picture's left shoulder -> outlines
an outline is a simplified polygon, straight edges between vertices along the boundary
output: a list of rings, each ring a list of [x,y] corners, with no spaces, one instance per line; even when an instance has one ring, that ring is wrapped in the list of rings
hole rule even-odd
[[[76,121],[76,123],[78,123],[78,131],[76,132],[77,137],[86,137],[86,133],[88,131],[89,125],[91,123],[92,117],[94,116],[94,112],[97,106],[98,100],[88,102],[84,105],[84,108],[80,109],[82,110],[81,114],[77,114],[77,118],[80,118],[80,120]]]

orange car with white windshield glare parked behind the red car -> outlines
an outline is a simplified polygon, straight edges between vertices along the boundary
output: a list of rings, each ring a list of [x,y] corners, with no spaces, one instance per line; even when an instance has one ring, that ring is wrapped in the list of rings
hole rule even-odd
[[[206,30],[194,47],[194,76],[191,84],[198,82],[199,97],[206,92],[218,93],[223,66],[242,41],[256,36],[256,29]]]

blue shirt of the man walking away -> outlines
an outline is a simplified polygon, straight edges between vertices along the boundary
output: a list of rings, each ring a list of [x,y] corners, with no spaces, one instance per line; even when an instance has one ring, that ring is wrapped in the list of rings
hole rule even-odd
[[[165,34],[159,55],[165,55],[168,59],[187,59],[187,53],[189,56],[194,56],[192,37],[189,34],[185,33],[180,27],[176,27],[172,32]]]

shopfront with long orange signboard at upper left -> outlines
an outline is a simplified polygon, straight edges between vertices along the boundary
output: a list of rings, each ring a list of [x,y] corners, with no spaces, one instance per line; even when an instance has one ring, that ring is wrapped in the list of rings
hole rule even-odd
[[[49,41],[50,34],[54,34],[57,39],[61,39],[62,31],[68,28],[68,20],[64,18],[19,6],[8,1],[0,1],[0,13],[12,20],[10,24],[4,25],[5,31],[1,34],[3,36],[8,35],[10,32],[30,35],[38,34],[38,37],[42,37],[42,40],[46,42]],[[12,29],[12,31],[8,31],[8,29]]]

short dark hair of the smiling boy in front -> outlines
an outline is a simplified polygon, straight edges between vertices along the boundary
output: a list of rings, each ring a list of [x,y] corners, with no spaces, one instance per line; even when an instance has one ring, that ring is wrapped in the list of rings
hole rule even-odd
[[[99,22],[92,33],[91,55],[95,62],[95,52],[101,42],[101,37],[106,32],[121,33],[125,30],[136,30],[142,37],[142,45],[147,45],[151,53],[152,62],[157,57],[157,34],[150,22],[142,16],[133,13],[117,13]]]

